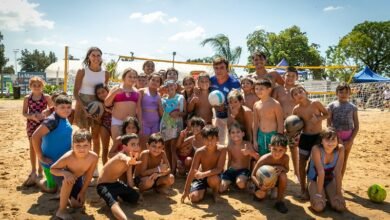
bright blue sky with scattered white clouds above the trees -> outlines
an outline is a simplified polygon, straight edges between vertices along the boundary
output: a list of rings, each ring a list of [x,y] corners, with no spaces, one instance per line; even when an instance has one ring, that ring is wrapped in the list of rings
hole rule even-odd
[[[105,60],[118,55],[185,61],[214,55],[202,39],[225,34],[232,48],[258,29],[280,31],[297,25],[310,43],[326,49],[364,21],[390,20],[388,0],[0,0],[0,32],[8,65],[15,50],[69,53],[83,59],[90,46]],[[20,57],[20,52],[16,53]]]

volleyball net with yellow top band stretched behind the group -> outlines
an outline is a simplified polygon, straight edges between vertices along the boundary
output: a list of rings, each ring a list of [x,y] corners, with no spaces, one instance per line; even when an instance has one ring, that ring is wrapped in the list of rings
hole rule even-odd
[[[68,51],[65,49],[65,57],[69,57],[69,48]],[[174,67],[179,72],[179,80],[183,79],[187,75],[196,76],[200,72],[207,72],[210,75],[213,75],[212,63],[200,63],[200,62],[186,62],[186,61],[177,61],[177,60],[167,60],[167,59],[155,59],[147,57],[139,57],[128,55],[116,55],[112,53],[105,53],[104,56],[109,55],[111,57],[111,62],[115,61],[113,75],[120,75],[121,72],[128,67],[135,69],[138,73],[143,72],[142,66],[145,61],[153,61],[155,63],[155,71],[166,70],[168,68]],[[70,69],[69,60],[65,59],[64,67],[64,90],[69,94],[73,93],[73,86],[75,81],[75,70]],[[105,66],[107,62],[103,63]],[[242,77],[247,74],[245,70],[253,69],[252,65],[230,65],[233,72],[239,73],[236,76]],[[287,66],[266,66],[267,69],[286,69]],[[315,70],[324,70],[324,72],[329,70],[338,70],[344,69],[348,71],[346,74],[349,75],[348,83],[351,82],[352,76],[357,71],[357,66],[295,66],[297,70],[307,71],[310,75],[316,74]],[[67,70],[67,71],[66,71]],[[301,77],[300,77],[301,78]],[[119,83],[118,79],[111,78],[109,86],[114,86]],[[337,99],[335,91],[339,82],[326,81],[326,80],[300,80],[305,89],[309,92],[309,98],[319,100],[324,105]],[[356,104],[359,108],[383,108],[385,103],[385,98],[383,92],[386,88],[390,87],[390,83],[350,83],[352,88],[351,101]]]

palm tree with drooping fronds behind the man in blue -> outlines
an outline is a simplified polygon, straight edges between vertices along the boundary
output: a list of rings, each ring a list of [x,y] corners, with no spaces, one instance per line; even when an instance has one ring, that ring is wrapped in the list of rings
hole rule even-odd
[[[231,50],[229,38],[224,34],[218,34],[215,37],[206,38],[200,43],[203,47],[206,44],[211,44],[211,47],[215,50],[215,56],[223,56],[231,64],[237,64],[240,60],[242,48],[236,47]]]

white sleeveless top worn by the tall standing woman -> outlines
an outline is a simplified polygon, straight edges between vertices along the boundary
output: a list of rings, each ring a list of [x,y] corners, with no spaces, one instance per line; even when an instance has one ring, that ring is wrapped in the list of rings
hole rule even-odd
[[[99,72],[93,72],[86,67],[84,69],[84,78],[81,82],[80,93],[86,95],[95,95],[95,86],[106,81],[106,71],[101,69]]]

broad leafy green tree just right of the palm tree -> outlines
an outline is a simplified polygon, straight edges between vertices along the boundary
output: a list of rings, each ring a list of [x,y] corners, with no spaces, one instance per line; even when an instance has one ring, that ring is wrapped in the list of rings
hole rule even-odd
[[[276,65],[283,58],[293,66],[318,66],[324,63],[318,49],[319,45],[309,44],[305,32],[298,26],[282,30],[279,34],[256,30],[247,36],[247,46],[250,53],[261,50],[267,55],[269,65]],[[248,63],[252,59],[248,57]],[[324,70],[313,70],[315,79],[324,77]]]

